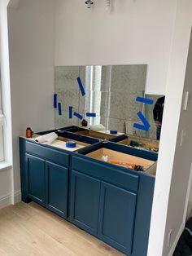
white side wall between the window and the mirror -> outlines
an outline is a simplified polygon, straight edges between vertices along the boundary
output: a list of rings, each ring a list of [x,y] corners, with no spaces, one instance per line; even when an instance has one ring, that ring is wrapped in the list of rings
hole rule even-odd
[[[55,126],[54,1],[20,0],[8,9],[14,192],[20,192],[19,135]],[[16,196],[15,195],[15,196]]]

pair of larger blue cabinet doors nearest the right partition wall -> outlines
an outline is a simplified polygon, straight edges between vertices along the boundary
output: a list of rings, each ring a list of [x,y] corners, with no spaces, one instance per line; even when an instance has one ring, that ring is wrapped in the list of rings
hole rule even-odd
[[[72,170],[71,218],[76,226],[131,255],[137,194]]]

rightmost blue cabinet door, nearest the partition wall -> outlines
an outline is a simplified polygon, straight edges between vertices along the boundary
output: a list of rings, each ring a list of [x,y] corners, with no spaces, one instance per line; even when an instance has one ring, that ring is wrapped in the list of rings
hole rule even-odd
[[[132,254],[136,202],[135,193],[102,182],[98,237],[127,255]]]

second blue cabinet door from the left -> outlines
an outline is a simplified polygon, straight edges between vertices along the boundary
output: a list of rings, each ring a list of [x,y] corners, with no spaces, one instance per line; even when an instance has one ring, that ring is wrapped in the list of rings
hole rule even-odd
[[[46,208],[67,218],[68,169],[46,161]]]

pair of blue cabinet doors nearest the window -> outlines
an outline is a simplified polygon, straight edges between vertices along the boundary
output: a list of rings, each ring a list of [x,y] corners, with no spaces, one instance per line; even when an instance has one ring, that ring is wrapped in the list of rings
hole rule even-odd
[[[63,218],[68,214],[68,168],[26,154],[27,196]]]

